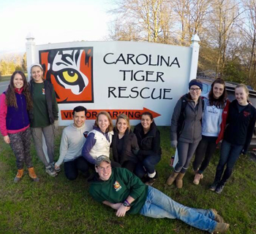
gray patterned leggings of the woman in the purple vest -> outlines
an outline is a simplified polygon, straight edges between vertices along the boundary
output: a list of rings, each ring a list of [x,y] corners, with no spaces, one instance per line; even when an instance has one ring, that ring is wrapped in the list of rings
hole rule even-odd
[[[16,157],[16,165],[18,169],[23,169],[24,163],[27,168],[32,168],[32,160],[30,155],[31,132],[27,128],[20,133],[8,133],[10,138],[10,147]]]

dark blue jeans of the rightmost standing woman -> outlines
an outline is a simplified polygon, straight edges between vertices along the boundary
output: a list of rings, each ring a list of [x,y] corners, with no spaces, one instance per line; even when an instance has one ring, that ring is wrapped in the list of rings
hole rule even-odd
[[[225,184],[225,182],[227,182],[243,148],[243,145],[230,144],[225,140],[222,141],[222,149],[220,151],[219,164],[217,165],[215,182],[219,182],[221,178],[222,180],[220,181],[220,184]],[[227,165],[227,167],[222,176],[225,165]]]

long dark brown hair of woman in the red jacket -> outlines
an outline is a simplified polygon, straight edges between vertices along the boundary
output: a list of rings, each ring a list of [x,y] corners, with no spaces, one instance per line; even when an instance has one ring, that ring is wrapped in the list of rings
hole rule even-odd
[[[222,95],[218,99],[214,98],[214,85],[215,84],[223,85],[223,88],[224,88]],[[227,100],[227,91],[226,91],[225,81],[223,79],[218,78],[218,79],[214,80],[214,82],[211,84],[211,91],[210,91],[208,97],[209,97],[210,106],[217,106],[217,108],[219,108],[219,109],[224,108],[225,102]]]

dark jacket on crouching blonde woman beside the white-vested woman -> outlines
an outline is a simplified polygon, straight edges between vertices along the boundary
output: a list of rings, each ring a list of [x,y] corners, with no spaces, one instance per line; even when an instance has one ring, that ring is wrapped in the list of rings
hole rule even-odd
[[[117,139],[118,139],[118,131],[114,128],[114,136],[112,139],[112,152],[113,152],[113,160],[117,163],[123,165],[126,161],[132,161],[134,163],[138,163],[137,155],[132,153],[132,149],[139,149],[138,141],[134,133],[129,132],[127,128],[124,136],[124,144],[122,146],[121,155],[118,155],[117,151]]]

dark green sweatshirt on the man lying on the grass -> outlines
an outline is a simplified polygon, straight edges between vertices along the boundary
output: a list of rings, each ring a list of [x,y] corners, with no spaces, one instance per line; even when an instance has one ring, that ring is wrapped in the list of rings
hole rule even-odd
[[[91,182],[89,192],[99,203],[123,203],[130,195],[135,200],[127,213],[138,214],[146,202],[148,186],[126,168],[112,168],[110,179]]]

